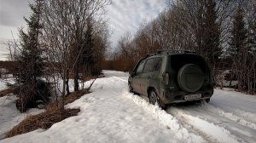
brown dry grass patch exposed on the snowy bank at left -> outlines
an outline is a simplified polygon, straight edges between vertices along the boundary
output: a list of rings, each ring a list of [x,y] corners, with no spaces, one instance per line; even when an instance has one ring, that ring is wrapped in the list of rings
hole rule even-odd
[[[67,105],[68,103],[78,100],[81,96],[88,93],[89,91],[87,90],[74,92],[67,96],[64,103]],[[49,104],[46,106],[46,112],[26,117],[25,120],[9,131],[6,138],[15,136],[17,134],[25,134],[36,129],[49,129],[54,123],[61,122],[67,117],[76,116],[78,115],[78,112],[80,112],[80,109],[65,110],[61,108],[61,101],[58,103]]]

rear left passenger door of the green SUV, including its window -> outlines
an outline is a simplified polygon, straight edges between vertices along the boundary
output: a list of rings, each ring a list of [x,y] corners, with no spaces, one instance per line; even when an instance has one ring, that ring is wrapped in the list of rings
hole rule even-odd
[[[147,95],[148,94],[148,87],[150,85],[151,80],[154,80],[154,74],[159,70],[161,64],[160,57],[154,57],[148,59],[145,63],[143,68],[143,74],[140,77],[140,93]]]

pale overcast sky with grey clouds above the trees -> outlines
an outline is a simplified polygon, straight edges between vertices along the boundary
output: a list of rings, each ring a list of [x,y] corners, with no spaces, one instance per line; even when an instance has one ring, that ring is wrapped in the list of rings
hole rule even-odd
[[[31,1],[31,0],[29,0]],[[26,26],[23,16],[30,15],[27,0],[0,0],[0,41],[17,36],[17,28]],[[153,20],[166,9],[166,0],[112,0],[107,7],[109,26],[113,33],[110,37],[111,46],[116,46],[119,37],[125,32],[134,34],[143,20]],[[0,60],[8,54],[0,42]]]

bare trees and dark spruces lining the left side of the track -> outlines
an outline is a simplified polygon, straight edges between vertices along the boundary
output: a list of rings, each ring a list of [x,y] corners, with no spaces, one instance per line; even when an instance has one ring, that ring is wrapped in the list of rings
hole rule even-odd
[[[102,71],[102,60],[108,46],[108,23],[102,18],[108,0],[35,0],[29,4],[32,14],[24,18],[27,31],[20,28],[20,39],[7,43],[10,59],[17,61],[16,106],[21,112],[56,102],[84,89],[84,78]],[[73,78],[70,81],[70,78]]]

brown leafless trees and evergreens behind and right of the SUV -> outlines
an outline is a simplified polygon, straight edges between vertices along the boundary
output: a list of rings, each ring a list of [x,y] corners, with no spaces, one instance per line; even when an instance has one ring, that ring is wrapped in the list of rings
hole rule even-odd
[[[215,79],[230,70],[229,80],[238,80],[237,89],[255,93],[255,1],[177,0],[168,6],[134,36],[120,38],[118,52],[107,63],[129,71],[148,53],[190,50],[205,57]]]

